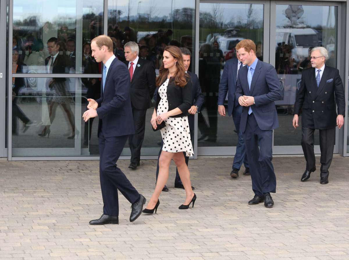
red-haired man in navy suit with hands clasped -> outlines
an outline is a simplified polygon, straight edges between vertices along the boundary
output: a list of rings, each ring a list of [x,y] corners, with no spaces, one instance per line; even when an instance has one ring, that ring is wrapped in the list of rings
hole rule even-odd
[[[254,197],[248,204],[264,201],[273,207],[270,192],[276,191],[276,176],[272,163],[273,129],[279,127],[275,100],[281,98],[279,78],[275,68],[256,57],[252,40],[242,40],[236,50],[244,68],[239,70],[235,100],[243,106],[240,130],[243,133],[252,179]]]

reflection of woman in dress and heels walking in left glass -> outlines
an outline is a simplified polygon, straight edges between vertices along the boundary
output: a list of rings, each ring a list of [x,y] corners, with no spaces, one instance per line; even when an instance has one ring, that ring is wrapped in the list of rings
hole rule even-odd
[[[58,49],[55,51],[58,51],[59,54],[57,55],[56,59],[53,62],[52,66],[52,73],[68,73],[70,68],[70,60],[67,53],[67,48],[65,47],[65,43],[62,41],[57,42],[55,45]],[[50,60],[49,56],[46,58],[45,64],[48,63],[47,60]],[[68,136],[68,139],[74,139],[75,135],[79,135],[79,131],[75,131],[75,119],[74,119],[74,113],[72,109],[70,108],[70,104],[73,103],[72,97],[70,97],[70,92],[68,90],[69,83],[66,80],[66,78],[52,78],[52,80],[48,83],[49,88],[53,94],[52,102],[49,107],[49,117],[50,117],[50,125],[46,125],[45,128],[41,133],[38,134],[38,136],[47,137],[50,136],[51,129],[50,126],[52,125],[52,122],[56,116],[56,110],[58,105],[61,105],[64,112],[67,114],[67,118],[69,121],[70,126],[72,127],[72,135]]]

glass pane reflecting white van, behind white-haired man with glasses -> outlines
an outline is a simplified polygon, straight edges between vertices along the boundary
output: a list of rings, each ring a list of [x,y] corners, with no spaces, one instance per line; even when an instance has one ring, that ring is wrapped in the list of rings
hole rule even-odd
[[[300,145],[302,128],[292,126],[293,107],[302,70],[311,67],[309,51],[316,46],[327,49],[326,65],[336,68],[337,7],[276,5],[275,68],[283,96],[275,101],[280,127],[274,130],[274,145]],[[318,131],[314,140],[319,145]]]

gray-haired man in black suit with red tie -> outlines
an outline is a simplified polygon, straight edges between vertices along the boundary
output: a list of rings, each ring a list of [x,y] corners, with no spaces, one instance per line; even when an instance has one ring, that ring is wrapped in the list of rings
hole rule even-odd
[[[135,133],[128,136],[131,150],[131,163],[128,168],[137,169],[140,165],[141,147],[146,128],[147,109],[152,106],[151,97],[155,91],[155,67],[153,62],[139,59],[139,47],[134,41],[124,45],[128,71],[131,76],[131,105]]]

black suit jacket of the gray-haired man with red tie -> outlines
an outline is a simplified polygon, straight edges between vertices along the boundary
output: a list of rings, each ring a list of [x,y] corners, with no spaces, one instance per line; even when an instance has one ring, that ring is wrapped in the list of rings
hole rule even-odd
[[[128,61],[124,61],[128,68]],[[139,66],[138,66],[139,65]],[[151,97],[155,91],[155,67],[153,62],[138,59],[131,80],[131,104],[136,109],[148,109],[152,106]]]

